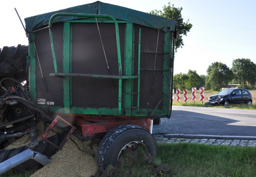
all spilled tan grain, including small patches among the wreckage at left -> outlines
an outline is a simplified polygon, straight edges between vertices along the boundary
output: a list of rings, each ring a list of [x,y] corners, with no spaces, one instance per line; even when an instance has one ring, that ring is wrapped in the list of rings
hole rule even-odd
[[[37,128],[39,129],[38,141],[41,141],[43,134],[43,123],[41,121],[37,123]],[[61,132],[57,127],[54,127],[54,131]],[[53,136],[54,134],[55,133],[51,131],[47,137]],[[39,169],[36,173],[31,175],[31,177],[90,177],[94,175],[98,171],[96,162],[98,143],[93,144],[93,148],[91,149],[89,146],[90,141],[82,142],[75,136],[70,136],[70,138],[72,138],[83,151],[80,151],[74,142],[68,139],[62,150],[57,151],[56,154],[51,157],[50,163]],[[5,149],[13,149],[28,145],[29,143],[31,143],[30,136],[25,135]],[[85,151],[90,154],[95,154],[95,156],[92,157]]]

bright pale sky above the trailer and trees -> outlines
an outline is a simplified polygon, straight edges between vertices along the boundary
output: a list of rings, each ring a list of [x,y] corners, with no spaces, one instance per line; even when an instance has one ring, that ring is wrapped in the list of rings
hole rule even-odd
[[[28,45],[22,23],[24,18],[88,4],[96,0],[7,0],[0,4],[0,48]],[[214,62],[232,67],[237,58],[247,58],[256,64],[256,1],[255,0],[101,0],[149,13],[163,10],[168,2],[182,7],[183,21],[193,25],[184,46],[175,53],[174,75],[195,70],[207,75]]]

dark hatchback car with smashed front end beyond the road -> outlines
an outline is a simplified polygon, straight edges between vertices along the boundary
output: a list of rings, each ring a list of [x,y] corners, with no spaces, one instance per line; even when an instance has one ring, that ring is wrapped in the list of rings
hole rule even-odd
[[[252,105],[252,95],[246,89],[225,89],[216,95],[210,96],[208,100],[204,105],[229,106],[230,104],[240,103]]]

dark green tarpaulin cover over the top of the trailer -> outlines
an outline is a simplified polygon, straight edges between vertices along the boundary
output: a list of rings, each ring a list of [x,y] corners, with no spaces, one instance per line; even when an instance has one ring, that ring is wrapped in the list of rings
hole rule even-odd
[[[59,11],[44,13],[33,17],[25,18],[26,30],[32,32],[38,28],[49,25],[49,20],[55,13],[83,13],[83,14],[98,14],[98,15],[111,15],[115,19],[124,20],[131,23],[137,23],[143,26],[147,26],[154,29],[160,29],[167,32],[168,30],[175,31],[176,21],[126,7],[117,6],[113,4],[107,4],[100,1],[93,2],[91,4],[84,4],[80,6],[74,6]],[[72,19],[79,19],[83,17],[70,17],[59,16],[54,19],[53,22],[68,21]]]

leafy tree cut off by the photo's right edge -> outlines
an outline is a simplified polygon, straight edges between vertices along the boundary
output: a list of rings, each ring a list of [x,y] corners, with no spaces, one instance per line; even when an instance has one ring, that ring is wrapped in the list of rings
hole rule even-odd
[[[256,79],[256,64],[250,59],[235,59],[232,62],[231,70],[234,73],[234,79],[241,85],[254,86]]]

